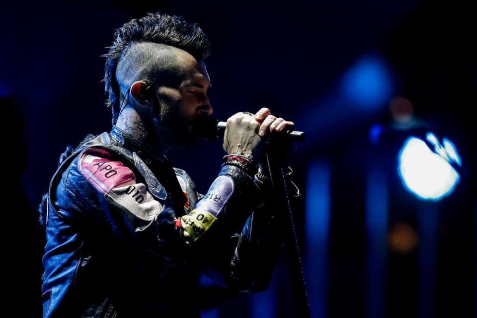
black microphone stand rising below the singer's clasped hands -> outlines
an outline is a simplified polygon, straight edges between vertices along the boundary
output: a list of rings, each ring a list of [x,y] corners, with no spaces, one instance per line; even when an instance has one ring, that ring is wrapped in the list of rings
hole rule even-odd
[[[286,134],[286,133],[285,133]],[[284,137],[285,136],[285,137]],[[304,134],[302,136],[304,139]],[[278,214],[285,216],[282,218],[285,228],[285,246],[287,247],[287,263],[290,272],[293,298],[295,301],[295,311],[297,317],[311,317],[310,304],[305,288],[305,277],[303,275],[302,261],[298,247],[297,233],[293,218],[293,211],[290,201],[289,170],[287,159],[292,149],[292,139],[282,135],[282,138],[269,138],[265,141],[264,156],[267,161],[268,171],[272,182],[271,207]]]

